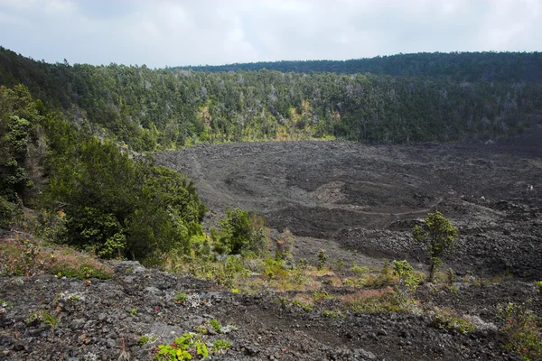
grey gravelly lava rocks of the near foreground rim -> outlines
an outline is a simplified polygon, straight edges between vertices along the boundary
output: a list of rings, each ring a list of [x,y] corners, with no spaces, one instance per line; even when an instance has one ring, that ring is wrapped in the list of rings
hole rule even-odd
[[[13,302],[0,309],[0,360],[150,360],[157,345],[210,319],[219,320],[224,332],[210,330],[203,338],[232,344],[212,359],[509,360],[516,357],[501,348],[503,339],[493,324],[496,310],[502,301],[537,297],[532,284],[523,282],[465,283],[456,293],[422,286],[417,297],[425,305],[454,307],[479,319],[478,329],[463,335],[431,327],[426,313],[357,315],[345,310],[344,318],[332,319],[323,317],[322,310],[341,307],[335,300],[307,311],[281,304],[273,292],[232,293],[135,262],[114,267],[114,277],[106,281],[0,278],[0,299]],[[177,303],[180,292],[186,298]],[[31,321],[37,312],[57,317],[58,324]],[[141,345],[144,336],[150,342]]]

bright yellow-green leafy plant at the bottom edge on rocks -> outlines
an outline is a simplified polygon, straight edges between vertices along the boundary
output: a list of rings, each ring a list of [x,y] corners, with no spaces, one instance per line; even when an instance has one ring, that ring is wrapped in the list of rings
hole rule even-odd
[[[209,350],[205,342],[196,334],[190,332],[175,338],[171,345],[158,346],[158,353],[154,356],[158,361],[183,361],[192,360],[193,357],[202,359],[209,356]]]

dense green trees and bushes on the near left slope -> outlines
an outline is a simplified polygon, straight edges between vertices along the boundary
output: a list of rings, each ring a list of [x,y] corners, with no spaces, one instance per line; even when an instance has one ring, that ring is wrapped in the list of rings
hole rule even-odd
[[[76,131],[23,85],[0,87],[0,153],[0,228],[31,207],[38,236],[153,264],[201,239],[206,209],[191,181]]]

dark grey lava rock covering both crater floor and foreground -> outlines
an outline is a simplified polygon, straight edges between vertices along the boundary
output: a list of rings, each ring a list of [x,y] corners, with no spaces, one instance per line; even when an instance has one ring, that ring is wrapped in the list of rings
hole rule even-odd
[[[294,300],[311,301],[313,291],[233,292],[133,262],[111,264],[110,280],[0,277],[0,360],[149,360],[159,344],[197,329],[207,329],[201,338],[208,345],[231,342],[212,359],[517,360],[502,347],[500,307],[532,300],[530,309],[542,315],[533,283],[542,280],[537,147],[243,143],[156,158],[195,180],[210,208],[207,227],[227,206],[248,208],[266,219],[272,235],[292,230],[297,260],[315,264],[325,248],[333,272],[317,281],[332,297],[311,302],[310,310]],[[435,209],[460,228],[457,249],[445,260],[456,282],[423,282],[408,312],[346,307],[364,292],[341,282],[355,276],[353,263],[378,269],[384,258],[406,258],[425,270],[425,253],[410,231]],[[185,300],[176,301],[181,293]],[[324,314],[330,310],[339,317]],[[436,310],[468,319],[474,330],[435,323]],[[45,314],[58,322],[43,322]],[[210,328],[210,319],[224,332]],[[139,345],[145,336],[150,342]]]

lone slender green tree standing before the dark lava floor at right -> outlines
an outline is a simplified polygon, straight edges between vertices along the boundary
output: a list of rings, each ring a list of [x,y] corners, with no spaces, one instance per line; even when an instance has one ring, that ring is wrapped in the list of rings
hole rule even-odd
[[[438,210],[427,215],[424,227],[414,227],[412,236],[416,241],[425,243],[429,255],[429,282],[433,282],[435,272],[442,265],[441,257],[453,250],[457,234],[457,227],[453,227]]]

